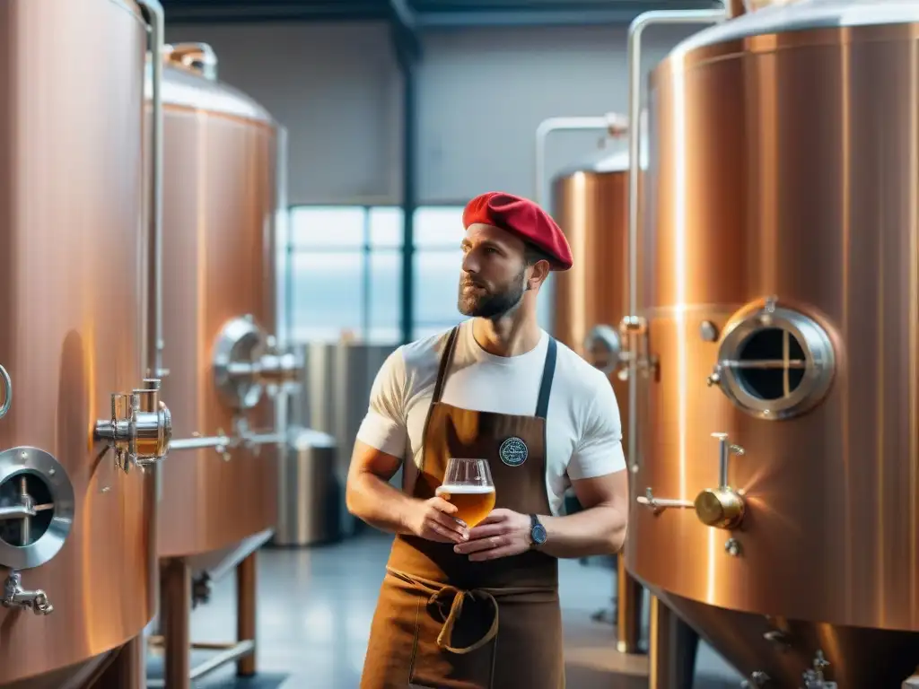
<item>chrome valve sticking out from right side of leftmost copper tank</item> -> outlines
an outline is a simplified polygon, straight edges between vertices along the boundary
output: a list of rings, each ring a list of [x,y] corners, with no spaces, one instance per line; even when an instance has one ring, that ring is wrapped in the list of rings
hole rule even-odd
[[[116,466],[149,466],[165,459],[172,440],[172,414],[160,401],[159,378],[146,378],[130,396],[112,394],[110,420],[96,422],[96,439],[115,450]]]

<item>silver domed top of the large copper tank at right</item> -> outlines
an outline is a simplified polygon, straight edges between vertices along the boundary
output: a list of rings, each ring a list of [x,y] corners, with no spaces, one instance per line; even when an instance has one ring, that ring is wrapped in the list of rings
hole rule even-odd
[[[795,0],[755,9],[704,28],[679,43],[670,57],[728,40],[811,28],[919,22],[919,0]]]

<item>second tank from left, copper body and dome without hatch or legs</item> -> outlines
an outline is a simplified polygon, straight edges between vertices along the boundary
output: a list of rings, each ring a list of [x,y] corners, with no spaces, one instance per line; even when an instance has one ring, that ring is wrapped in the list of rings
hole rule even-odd
[[[262,395],[237,413],[214,382],[215,343],[227,322],[251,314],[275,332],[274,227],[278,133],[254,101],[206,75],[167,63],[165,101],[165,366],[175,399],[174,453],[193,435],[274,428]],[[181,418],[181,421],[179,419]],[[181,449],[164,472],[162,558],[188,558],[193,570],[238,561],[247,537],[277,522],[278,452],[235,447]],[[267,540],[265,534],[248,548]]]

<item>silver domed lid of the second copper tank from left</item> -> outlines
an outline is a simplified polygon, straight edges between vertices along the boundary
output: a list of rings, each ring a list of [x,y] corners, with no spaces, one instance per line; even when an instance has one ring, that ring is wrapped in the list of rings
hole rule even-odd
[[[273,124],[271,114],[242,91],[216,79],[209,79],[197,70],[176,66],[165,59],[163,65],[163,103],[165,106],[191,107],[218,115],[251,119]],[[153,76],[147,62],[144,94],[153,97]]]

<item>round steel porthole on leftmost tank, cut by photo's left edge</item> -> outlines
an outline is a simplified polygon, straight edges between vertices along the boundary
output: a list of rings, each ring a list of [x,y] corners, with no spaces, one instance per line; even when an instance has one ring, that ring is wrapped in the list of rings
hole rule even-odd
[[[0,566],[39,567],[63,548],[74,525],[74,486],[37,447],[0,452]]]

